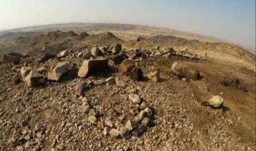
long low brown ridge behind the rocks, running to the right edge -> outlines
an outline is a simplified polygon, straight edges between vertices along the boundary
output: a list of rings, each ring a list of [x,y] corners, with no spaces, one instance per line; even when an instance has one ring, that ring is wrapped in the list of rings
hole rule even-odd
[[[250,62],[255,62],[255,55],[247,50],[236,45],[218,42],[201,42],[199,40],[178,38],[175,36],[153,36],[149,38],[139,37],[137,40],[133,40],[124,44],[127,48],[139,48],[139,47],[173,47],[176,49],[189,48],[194,50],[211,50],[219,51],[222,53],[230,54]]]

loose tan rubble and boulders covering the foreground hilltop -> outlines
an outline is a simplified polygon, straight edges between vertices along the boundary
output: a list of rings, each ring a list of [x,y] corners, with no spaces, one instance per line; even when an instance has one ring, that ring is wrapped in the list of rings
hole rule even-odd
[[[45,47],[39,60],[3,65],[2,76],[15,75],[15,85],[5,82],[1,90],[0,150],[255,149],[230,129],[239,120],[220,109],[225,95],[209,90],[197,69],[178,62],[168,64],[175,75],[150,68],[157,63],[147,59],[181,57],[187,49],[94,46],[58,55]],[[197,125],[202,114],[216,119],[200,123],[205,133]]]

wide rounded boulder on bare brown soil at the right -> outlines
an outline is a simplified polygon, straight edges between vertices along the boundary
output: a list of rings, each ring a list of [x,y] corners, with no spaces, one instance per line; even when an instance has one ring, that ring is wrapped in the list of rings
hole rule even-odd
[[[192,80],[198,80],[200,73],[197,69],[183,65],[182,63],[175,62],[172,65],[171,71],[179,78],[186,78]]]

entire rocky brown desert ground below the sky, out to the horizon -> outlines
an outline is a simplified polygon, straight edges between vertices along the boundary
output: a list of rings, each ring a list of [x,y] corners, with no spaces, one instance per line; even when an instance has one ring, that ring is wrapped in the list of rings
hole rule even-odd
[[[255,50],[126,24],[0,32],[0,150],[255,150]]]

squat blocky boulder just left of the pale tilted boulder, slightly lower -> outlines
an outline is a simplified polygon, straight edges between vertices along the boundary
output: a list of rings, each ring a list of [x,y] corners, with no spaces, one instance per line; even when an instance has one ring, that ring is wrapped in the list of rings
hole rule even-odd
[[[45,77],[42,74],[37,73],[36,71],[30,71],[25,77],[25,83],[29,87],[35,87],[45,84]]]

